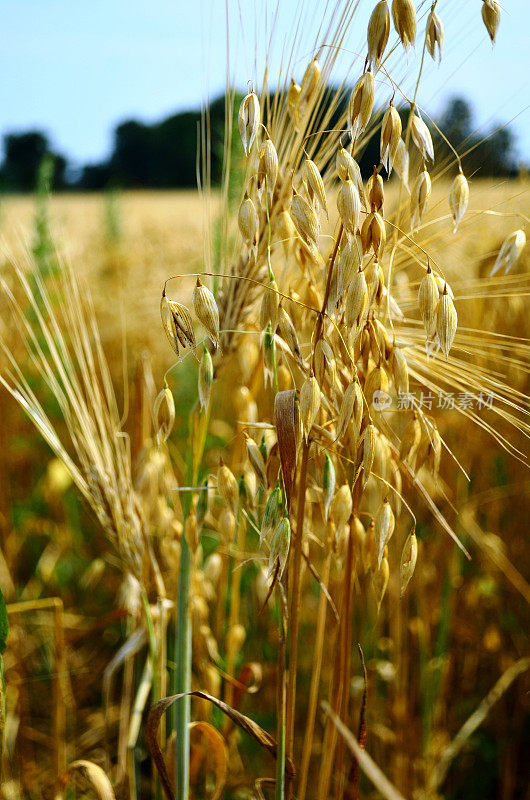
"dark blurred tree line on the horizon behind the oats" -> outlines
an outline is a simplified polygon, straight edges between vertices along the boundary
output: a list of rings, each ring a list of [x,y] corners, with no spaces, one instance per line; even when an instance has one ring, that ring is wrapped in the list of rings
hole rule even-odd
[[[236,115],[240,99],[235,98]],[[225,108],[225,97],[221,96],[209,109],[213,185],[220,182],[222,174]],[[343,108],[337,109],[336,119],[342,111]],[[406,120],[408,110],[404,109],[401,113],[403,120]],[[174,114],[153,124],[127,120],[114,129],[109,158],[99,164],[86,164],[79,170],[74,170],[64,155],[54,152],[43,132],[7,134],[4,137],[4,159],[0,166],[0,189],[4,192],[33,191],[39,165],[45,156],[53,165],[52,188],[55,191],[196,186],[200,122],[199,111]],[[332,126],[333,122],[332,120]],[[315,124],[318,129],[318,120]],[[443,131],[445,138],[437,128]],[[456,167],[448,142],[459,154],[465,154],[462,165],[467,176],[513,177],[517,174],[515,137],[512,130],[502,126],[486,135],[474,132],[472,110],[465,99],[451,99],[436,121],[436,127],[431,126],[431,132],[437,164],[452,165],[448,169],[449,173]],[[367,177],[374,164],[379,163],[379,131],[367,143],[359,161],[361,171]]]

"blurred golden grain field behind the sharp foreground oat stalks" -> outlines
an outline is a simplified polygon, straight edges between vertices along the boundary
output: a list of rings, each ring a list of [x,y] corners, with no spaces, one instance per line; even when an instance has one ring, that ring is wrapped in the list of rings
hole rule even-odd
[[[469,335],[484,327],[491,332],[487,341],[484,339],[483,349],[481,334],[477,334],[479,343],[474,351],[477,355],[473,356],[477,369],[491,370],[496,375],[495,337],[511,337],[502,339],[498,352],[506,357],[506,363],[509,362],[511,386],[514,392],[519,392],[521,405],[528,412],[524,397],[530,389],[528,248],[514,269],[517,277],[506,282],[507,288],[495,284],[492,289],[486,276],[504,238],[524,227],[524,220],[530,218],[530,184],[525,180],[471,180],[469,208],[454,241],[447,233],[448,190],[448,183],[434,184],[429,211],[429,218],[434,222],[422,230],[421,242],[433,259],[444,264],[446,277],[455,286],[459,325]],[[396,192],[391,185],[386,200],[388,207],[395,202]],[[331,199],[331,209],[334,206],[334,199]],[[124,407],[128,411],[124,430],[131,436],[137,470],[134,477],[142,498],[156,494],[153,487],[160,480],[151,464],[148,465],[150,471],[144,469],[142,459],[147,450],[146,439],[152,444],[153,389],[158,393],[162,376],[173,361],[160,324],[161,289],[169,276],[204,271],[205,235],[215,227],[217,209],[215,195],[206,207],[195,192],[126,192],[112,197],[60,195],[52,197],[47,204],[59,260],[64,260],[82,277],[94,300],[103,351],[118,401],[123,403],[120,413]],[[486,210],[493,213],[484,213]],[[336,216],[336,211],[332,211],[332,223]],[[27,263],[28,250],[35,243],[33,198],[2,199],[0,240],[4,274],[12,260]],[[281,259],[278,257],[275,263],[281,264]],[[412,265],[407,277],[414,293],[418,275]],[[174,281],[169,285],[168,294],[189,303],[192,286],[191,280]],[[403,298],[405,296],[409,295],[403,293]],[[399,301],[399,287],[396,297]],[[406,302],[404,299],[405,305]],[[404,310],[408,313],[408,306]],[[253,327],[258,330],[257,324]],[[5,335],[5,328],[3,333]],[[16,347],[16,331],[7,333],[15,340]],[[462,341],[461,347],[465,350],[465,340]],[[243,346],[241,351],[231,356],[233,361],[230,362],[237,376],[245,373]],[[149,390],[143,386],[142,373],[142,363],[147,360],[153,375],[153,387],[149,386]],[[258,372],[256,369],[249,381],[256,395],[263,391],[262,379],[256,377]],[[228,370],[228,374],[220,378],[220,391],[212,409],[211,441],[208,440],[205,457],[209,474],[215,473],[219,454],[227,442],[235,442],[236,450],[244,450],[243,440],[237,444],[240,431],[238,433],[231,424],[233,407],[238,410],[244,407],[240,394],[233,389],[231,375]],[[191,359],[169,379],[177,406],[169,453],[179,483],[184,483],[180,478],[186,457],[185,429],[196,379],[196,366]],[[39,386],[37,379],[35,385]],[[53,398],[45,388],[39,390],[43,391],[46,408],[53,417],[57,411]],[[116,673],[108,697],[102,687],[106,667],[132,630],[129,618],[140,612],[137,608],[131,610],[128,603],[119,557],[109,548],[93,515],[79,500],[68,476],[57,466],[57,460],[52,460],[49,448],[3,390],[0,417],[3,554],[0,584],[8,608],[11,606],[11,633],[4,655],[7,725],[3,797],[5,800],[52,797],[58,764],[64,766],[75,759],[90,759],[104,765],[117,776],[116,796],[127,797],[125,789],[122,795],[119,793],[119,781],[123,778],[120,758],[125,752],[120,703],[125,702],[123,697],[127,693],[130,700],[138,690],[145,651],[139,651],[140,661],[134,668],[126,664],[123,673]],[[484,419],[492,420],[487,411]],[[462,415],[439,412],[437,421],[470,480],[466,480],[456,460],[444,454],[440,484],[430,489],[439,508],[469,549],[471,560],[466,560],[433,521],[430,511],[419,503],[414,506],[420,539],[418,566],[403,602],[399,599],[398,583],[391,579],[383,612],[378,615],[370,607],[365,614],[360,598],[368,579],[359,568],[353,588],[353,722],[355,726],[358,723],[363,692],[355,647],[357,641],[362,641],[368,675],[368,749],[374,760],[384,766],[388,777],[401,787],[405,797],[474,800],[495,796],[502,800],[528,800],[530,794],[524,778],[525,765],[530,758],[528,671],[523,674],[521,668],[517,676],[510,673],[508,684],[499,688],[498,699],[489,697],[486,706],[481,707],[496,681],[530,656],[530,475],[528,464],[524,463],[528,461],[528,437],[506,420],[492,420],[499,437],[506,436],[518,448],[517,458],[507,453],[501,442],[486,430]],[[233,459],[237,465],[236,456]],[[311,465],[310,470],[314,466]],[[413,489],[408,487],[409,502],[412,496]],[[315,518],[318,516],[317,501],[311,513]],[[400,542],[401,534],[400,530]],[[161,527],[156,534],[165,557],[163,577],[171,589],[170,594],[175,590],[172,548],[178,549],[181,535],[182,526],[171,521],[167,530]],[[256,692],[245,694],[243,687],[243,696],[238,702],[246,715],[272,731],[278,646],[276,617],[268,610],[260,612],[262,596],[256,588],[258,578],[253,559],[257,558],[257,544],[253,536],[254,532],[249,529],[239,556],[247,570],[241,568],[239,611],[244,644],[240,645],[241,652],[237,655],[241,683],[236,681],[236,689],[232,686],[229,691],[223,684],[223,696],[226,699],[228,694],[233,699],[237,695],[244,682],[241,677],[244,667],[251,665],[255,670],[252,674],[256,678]],[[202,545],[205,554],[211,549],[212,541],[211,536],[205,537]],[[390,556],[399,564],[396,541],[392,542]],[[334,554],[335,557],[339,561],[344,554]],[[338,572],[335,574],[334,569],[332,565],[329,588],[336,598]],[[320,595],[318,583],[311,581],[308,571],[303,576],[300,626],[302,641],[308,644],[300,648],[299,691],[305,694],[309,690],[311,640]],[[203,578],[199,576],[197,580]],[[196,590],[200,594],[197,587]],[[45,598],[58,598],[59,605],[47,608],[44,604],[44,610],[38,603],[32,605],[33,601]],[[211,682],[206,689],[211,694],[220,691],[221,681],[230,672],[225,654],[230,652],[231,644],[227,643],[217,602],[221,605],[215,597],[209,597],[207,610],[208,624],[217,645],[210,642],[211,651],[201,656],[208,662],[207,667],[202,664],[194,667],[193,688],[205,688],[199,684],[199,676],[209,676]],[[14,603],[28,605],[15,607]],[[199,611],[197,616],[200,618]],[[331,640],[335,633],[331,613],[328,613],[327,624]],[[202,647],[201,642],[198,645],[201,653]],[[168,666],[173,668],[171,657]],[[327,687],[331,681],[332,664],[324,661],[322,685]],[[252,749],[235,727],[228,723],[223,725],[206,703],[200,705],[197,701],[193,708],[197,719],[208,720],[225,736],[228,753],[225,797],[250,797],[254,787],[246,777],[249,764],[252,774],[270,775],[268,756],[259,749]],[[480,726],[477,723],[455,753],[454,761],[449,762],[445,782],[430,795],[417,793],[417,787],[423,785],[421,776],[429,773],[464,722],[481,708],[484,714]],[[300,708],[295,724],[297,753],[302,748],[304,713],[305,709]],[[142,721],[141,709],[139,715],[138,724],[143,729],[145,714]],[[316,726],[320,734],[324,727],[320,717],[317,717]],[[218,763],[212,764],[211,754],[208,760],[208,746],[204,742],[201,745],[199,735],[192,738],[192,746],[195,755],[193,796],[210,797],[214,778],[218,778],[221,767]],[[315,745],[319,756],[322,756],[322,748],[319,739]],[[137,780],[143,781],[145,791],[150,792],[152,775],[147,766],[145,744],[136,749],[129,746],[127,752],[127,758],[136,759]],[[346,758],[344,753],[342,758]],[[214,778],[206,778],[206,773],[212,773]],[[311,786],[311,774],[308,796],[312,798],[316,794]],[[381,796],[368,785],[362,784],[362,787],[364,794],[361,792],[361,796]]]

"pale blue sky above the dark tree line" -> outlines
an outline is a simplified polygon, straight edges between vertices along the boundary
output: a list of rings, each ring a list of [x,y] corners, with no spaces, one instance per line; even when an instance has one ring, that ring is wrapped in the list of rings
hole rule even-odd
[[[241,11],[237,0],[227,4],[232,76],[244,87],[259,74],[264,19],[275,3],[242,0]],[[364,48],[374,4],[375,0],[359,3],[345,43],[348,52],[340,62],[345,70],[353,58],[350,51]],[[299,0],[281,0],[278,42],[292,30],[298,5]],[[421,17],[430,2],[416,5]],[[331,6],[330,0],[309,0],[308,28],[316,30],[326,6]],[[505,0],[495,48],[480,9],[481,0],[439,0],[445,53],[440,67],[428,59],[419,101],[436,114],[447,97],[462,94],[472,101],[477,123],[486,126],[519,115],[513,128],[520,156],[530,163],[527,0]],[[154,121],[197,107],[206,93],[213,97],[224,87],[225,0],[17,0],[3,3],[0,28],[0,135],[42,128],[56,148],[79,163],[108,154],[117,122],[130,117]],[[418,28],[422,35],[424,22]],[[420,45],[408,58],[409,89],[419,51]],[[303,58],[294,64],[298,79],[305,62],[303,46],[301,52]],[[271,73],[279,63],[277,48]],[[355,66],[353,74],[360,68]]]

